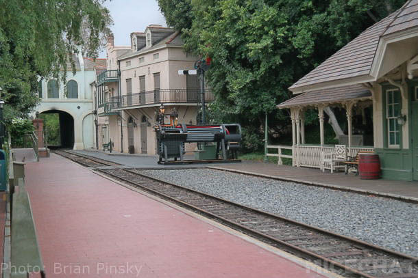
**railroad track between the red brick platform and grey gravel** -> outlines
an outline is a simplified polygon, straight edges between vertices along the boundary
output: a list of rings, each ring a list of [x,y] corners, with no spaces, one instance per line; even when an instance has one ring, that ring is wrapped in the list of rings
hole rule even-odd
[[[76,154],[78,156],[78,154]],[[84,157],[82,157],[84,158]],[[75,158],[77,160],[77,158]],[[344,277],[418,277],[418,258],[262,212],[129,169],[95,169]]]

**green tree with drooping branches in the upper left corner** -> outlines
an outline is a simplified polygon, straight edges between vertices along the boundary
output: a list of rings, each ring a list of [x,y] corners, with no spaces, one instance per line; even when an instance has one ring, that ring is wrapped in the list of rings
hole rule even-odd
[[[5,122],[36,105],[38,79],[64,79],[69,53],[97,57],[112,23],[103,0],[0,0],[0,87]]]

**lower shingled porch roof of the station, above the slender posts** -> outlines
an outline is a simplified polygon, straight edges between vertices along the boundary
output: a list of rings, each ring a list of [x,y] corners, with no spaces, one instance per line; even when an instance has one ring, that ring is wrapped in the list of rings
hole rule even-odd
[[[280,109],[318,105],[321,103],[341,102],[343,100],[354,100],[358,98],[371,98],[371,92],[362,85],[349,85],[334,87],[332,89],[317,89],[304,94],[299,94],[290,100],[280,103]]]

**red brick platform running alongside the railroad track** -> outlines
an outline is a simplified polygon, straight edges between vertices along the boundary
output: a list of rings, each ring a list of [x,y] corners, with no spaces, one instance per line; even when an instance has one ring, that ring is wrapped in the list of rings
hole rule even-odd
[[[333,276],[56,154],[25,176],[47,277]]]

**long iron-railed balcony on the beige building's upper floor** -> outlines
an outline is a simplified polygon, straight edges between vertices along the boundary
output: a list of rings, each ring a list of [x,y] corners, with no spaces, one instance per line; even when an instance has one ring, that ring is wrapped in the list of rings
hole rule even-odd
[[[212,102],[214,96],[211,91],[205,91],[205,101]],[[118,97],[112,98],[113,102],[118,101]],[[119,108],[141,107],[159,105],[160,103],[190,103],[197,104],[201,102],[199,89],[156,89],[149,92],[140,92],[137,94],[125,94],[121,96]]]

